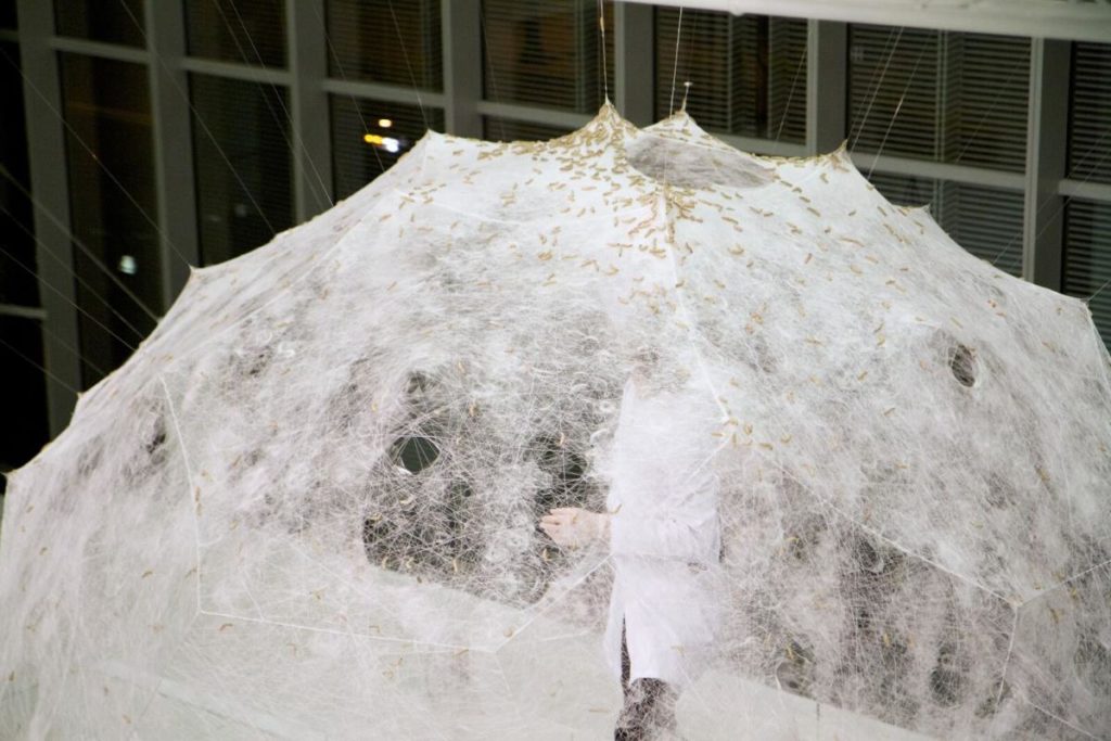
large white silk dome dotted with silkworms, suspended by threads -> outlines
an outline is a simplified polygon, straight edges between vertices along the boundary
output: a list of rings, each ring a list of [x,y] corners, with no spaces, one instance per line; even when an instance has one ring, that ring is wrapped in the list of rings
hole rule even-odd
[[[610,557],[537,521],[602,508],[645,348],[700,390],[720,481],[681,733],[1105,738],[1087,307],[843,151],[609,106],[551,142],[429,133],[193,271],[11,477],[0,735],[605,738]]]

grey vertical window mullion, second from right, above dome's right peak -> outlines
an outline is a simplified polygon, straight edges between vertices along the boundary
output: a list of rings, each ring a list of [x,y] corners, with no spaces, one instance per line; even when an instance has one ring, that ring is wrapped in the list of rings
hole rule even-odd
[[[848,138],[849,27],[835,21],[807,22],[807,147],[822,154]]]

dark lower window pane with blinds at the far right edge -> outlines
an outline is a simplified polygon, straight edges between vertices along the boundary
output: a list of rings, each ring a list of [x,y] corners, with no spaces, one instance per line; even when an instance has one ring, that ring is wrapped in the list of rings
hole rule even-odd
[[[1064,293],[1088,301],[1111,348],[1111,203],[1073,199],[1064,223]]]

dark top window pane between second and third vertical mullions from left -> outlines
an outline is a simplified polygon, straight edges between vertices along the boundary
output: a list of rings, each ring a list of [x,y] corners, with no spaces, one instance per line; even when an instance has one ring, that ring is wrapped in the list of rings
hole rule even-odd
[[[193,57],[286,66],[284,0],[186,0],[186,29]]]

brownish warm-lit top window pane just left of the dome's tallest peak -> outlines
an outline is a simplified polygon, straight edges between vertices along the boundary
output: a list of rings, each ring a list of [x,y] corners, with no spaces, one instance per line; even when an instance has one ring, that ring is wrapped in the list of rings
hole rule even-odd
[[[605,4],[613,28],[613,3]],[[483,0],[483,96],[594,113],[604,100],[598,2]],[[613,79],[613,34],[605,34],[607,77]]]

